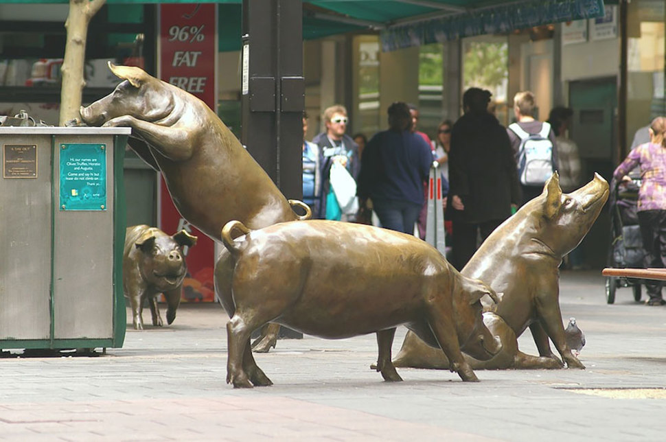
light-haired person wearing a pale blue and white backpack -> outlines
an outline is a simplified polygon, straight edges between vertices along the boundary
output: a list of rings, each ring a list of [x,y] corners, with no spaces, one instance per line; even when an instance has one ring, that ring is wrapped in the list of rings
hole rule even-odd
[[[521,91],[514,95],[516,122],[509,124],[507,134],[516,156],[523,204],[539,196],[547,179],[558,170],[555,132],[549,123],[534,118],[534,110],[533,93]]]

